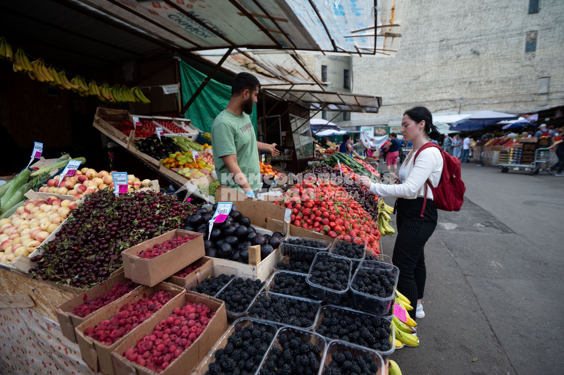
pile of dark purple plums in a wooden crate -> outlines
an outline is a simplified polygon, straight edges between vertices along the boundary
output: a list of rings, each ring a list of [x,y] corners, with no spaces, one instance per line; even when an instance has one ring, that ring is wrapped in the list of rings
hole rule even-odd
[[[206,208],[198,209],[194,215],[188,217],[186,227],[184,227],[186,230],[200,232],[204,235],[206,256],[248,263],[249,246],[261,246],[261,259],[266,258],[280,246],[283,234],[274,232],[271,236],[257,233],[250,225],[250,219],[239,211],[231,211],[224,222],[214,224],[209,231],[209,221],[213,217],[215,208],[217,208],[217,203],[214,204],[211,211]],[[235,209],[236,207],[233,206],[233,210]]]

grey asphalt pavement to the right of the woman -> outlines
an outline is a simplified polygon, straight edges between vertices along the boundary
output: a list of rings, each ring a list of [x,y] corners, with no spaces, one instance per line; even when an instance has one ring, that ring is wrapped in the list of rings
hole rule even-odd
[[[439,211],[425,247],[420,346],[391,359],[403,374],[564,373],[564,177],[470,162],[462,180],[461,211]]]

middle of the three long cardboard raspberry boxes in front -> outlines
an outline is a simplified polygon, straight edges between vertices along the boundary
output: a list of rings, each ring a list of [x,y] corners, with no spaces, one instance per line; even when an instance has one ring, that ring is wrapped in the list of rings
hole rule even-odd
[[[121,306],[137,302],[141,299],[149,297],[149,295],[151,295],[152,293],[161,290],[169,292],[174,296],[169,302],[165,304],[165,306],[161,307],[161,310],[172,305],[174,301],[178,299],[182,300],[184,294],[186,293],[185,289],[178,287],[178,285],[169,283],[160,283],[155,285],[155,287],[144,286],[142,288],[136,289],[135,293],[130,293],[125,298],[122,298],[119,303],[110,303],[109,305],[102,307],[102,309],[96,311],[94,315],[92,315],[89,319],[85,320],[82,324],[78,325],[78,327],[74,329],[78,347],[80,347],[80,355],[91,369],[94,369],[95,372],[101,372],[105,375],[114,375],[115,372],[113,369],[112,351],[116,349],[116,347],[118,347],[120,343],[126,340],[126,338],[130,337],[132,334],[135,334],[136,331],[142,328],[143,325],[149,321],[149,319],[147,319],[142,324],[139,324],[137,327],[125,334],[125,336],[121,337],[120,340],[114,342],[112,345],[105,345],[98,340],[94,340],[94,338],[86,336],[86,334],[84,333],[84,331],[86,331],[86,328],[95,327],[96,324],[102,322],[103,320],[110,319],[113,315],[116,315],[120,311]],[[153,316],[154,315],[156,315],[156,313],[153,314]]]

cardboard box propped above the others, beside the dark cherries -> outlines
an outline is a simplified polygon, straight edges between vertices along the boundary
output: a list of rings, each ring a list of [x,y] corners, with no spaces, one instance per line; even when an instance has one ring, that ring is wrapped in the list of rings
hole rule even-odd
[[[139,257],[139,253],[155,244],[162,244],[176,236],[196,235],[196,238],[152,259]],[[125,277],[133,282],[152,287],[169,278],[184,267],[205,255],[204,236],[201,233],[174,229],[121,252]]]

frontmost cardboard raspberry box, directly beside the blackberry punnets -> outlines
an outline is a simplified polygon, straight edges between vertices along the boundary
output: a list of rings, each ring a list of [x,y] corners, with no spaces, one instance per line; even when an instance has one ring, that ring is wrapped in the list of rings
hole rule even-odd
[[[202,303],[208,306],[211,311],[215,311],[215,315],[204,329],[204,332],[184,350],[178,358],[173,360],[169,367],[160,373],[153,372],[146,367],[133,363],[123,354],[127,349],[135,347],[140,338],[147,336],[155,331],[156,325],[163,319],[173,314],[176,307],[182,307],[188,302]],[[120,343],[112,352],[112,359],[117,375],[171,375],[171,374],[190,374],[196,365],[202,361],[214,346],[215,342],[221,338],[222,334],[227,330],[227,315],[225,303],[217,298],[202,296],[196,293],[186,293],[182,297],[177,298],[171,303],[167,303],[156,314],[147,319],[142,325],[131,331],[130,335]]]

